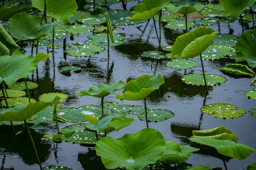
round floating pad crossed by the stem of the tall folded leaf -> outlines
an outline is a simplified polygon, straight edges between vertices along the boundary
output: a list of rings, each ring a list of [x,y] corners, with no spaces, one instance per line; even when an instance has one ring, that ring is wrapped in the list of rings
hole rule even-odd
[[[221,75],[216,74],[206,74],[207,86],[216,86],[226,82],[226,79]],[[184,75],[181,80],[186,84],[191,84],[195,86],[204,86],[204,76],[203,74],[188,74]]]

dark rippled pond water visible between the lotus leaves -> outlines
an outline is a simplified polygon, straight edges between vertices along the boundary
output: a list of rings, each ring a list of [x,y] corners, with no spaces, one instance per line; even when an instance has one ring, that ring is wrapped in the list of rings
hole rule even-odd
[[[129,2],[127,8],[132,8],[138,2]],[[110,5],[112,9],[122,9],[122,3]],[[143,25],[141,29],[136,28]],[[101,83],[113,84],[122,80],[127,82],[136,79],[138,76],[149,74],[161,74],[165,83],[160,86],[159,90],[152,92],[147,97],[147,107],[149,109],[167,109],[174,112],[175,116],[162,122],[150,122],[149,127],[159,130],[167,141],[175,141],[179,145],[189,145],[188,138],[192,136],[192,130],[207,130],[217,126],[225,126],[236,134],[240,139],[238,143],[256,148],[256,129],[255,119],[249,118],[250,109],[255,108],[256,101],[248,99],[245,92],[252,90],[250,85],[253,78],[235,78],[223,74],[219,69],[226,64],[235,63],[234,59],[216,59],[212,61],[205,60],[204,67],[206,74],[218,74],[224,76],[227,81],[220,86],[209,88],[209,96],[205,99],[205,86],[190,86],[181,81],[185,74],[201,74],[199,59],[191,59],[199,63],[198,66],[188,70],[177,70],[168,67],[166,63],[170,59],[150,59],[141,57],[141,53],[147,50],[158,48],[154,24],[152,19],[138,25],[120,25],[123,28],[114,33],[125,36],[125,43],[110,48],[109,57],[105,50],[102,53],[95,54],[91,57],[74,57],[67,56],[64,58],[63,49],[55,49],[56,53],[51,54],[51,58],[45,62],[39,62],[38,77],[34,76],[34,82],[38,83],[38,88],[34,90],[34,98],[48,92],[61,92],[68,94],[68,100],[64,103],[69,105],[100,105],[101,100],[95,97],[82,96],[78,97],[77,92],[88,90],[90,87],[97,87]],[[197,26],[196,26],[197,27]],[[195,27],[195,28],[196,28]],[[217,33],[240,36],[242,33],[241,25],[238,21],[230,24],[230,27],[224,23],[210,26]],[[249,27],[252,24],[249,23]],[[193,29],[195,29],[193,28]],[[247,28],[248,29],[248,28]],[[184,33],[183,30],[174,30],[164,27],[162,24],[162,46],[172,45],[177,36]],[[68,43],[77,41],[86,43],[87,36],[92,33],[86,33],[75,37],[74,40],[67,38]],[[67,36],[69,37],[69,35]],[[55,41],[57,45],[62,45],[63,39]],[[107,49],[107,46],[105,46]],[[31,46],[26,48],[26,54],[30,53]],[[49,50],[46,46],[40,46],[39,52],[47,53]],[[54,59],[53,59],[54,58]],[[246,64],[246,63],[243,63]],[[80,73],[61,74],[59,69],[65,65],[76,65],[81,67]],[[32,76],[29,77],[32,80]],[[115,95],[106,96],[105,101],[115,101],[119,104],[143,105],[143,101],[127,101],[114,99]],[[229,103],[237,108],[245,109],[246,114],[242,117],[223,120],[213,117],[210,114],[201,113],[201,107],[205,104]],[[118,132],[112,132],[108,136],[119,138],[127,133],[137,133],[146,128],[146,122],[134,118],[135,122]],[[61,124],[64,128],[67,124]],[[6,139],[9,135],[10,126],[0,126],[0,162],[1,169],[39,169],[34,156],[34,151],[30,146],[30,140],[24,139],[22,135],[16,135],[11,138],[9,150],[6,151]],[[15,126],[15,133],[22,131],[24,126]],[[31,130],[32,136],[39,152],[39,157],[43,167],[48,165],[59,165],[71,169],[100,169],[96,162],[96,157],[92,147],[80,146],[68,142],[53,143],[41,141],[44,134],[56,134],[56,128],[49,126],[46,130]],[[212,150],[199,151],[192,154],[186,163],[196,165],[206,165],[210,168],[223,167],[221,156]],[[256,152],[244,160],[229,159],[228,169],[246,169],[249,164],[256,160]]]

